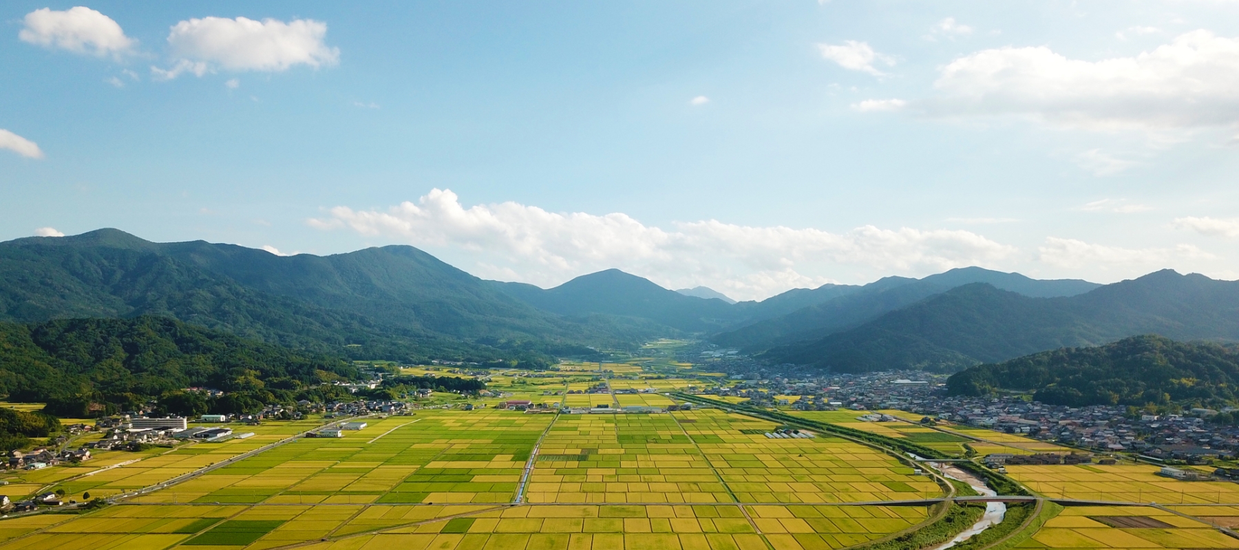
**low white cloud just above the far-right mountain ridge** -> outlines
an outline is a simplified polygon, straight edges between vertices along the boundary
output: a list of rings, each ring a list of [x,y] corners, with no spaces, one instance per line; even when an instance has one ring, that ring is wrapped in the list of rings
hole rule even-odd
[[[1209,253],[1191,244],[1175,248],[1120,248],[1103,244],[1090,244],[1077,239],[1049,237],[1038,248],[1041,261],[1067,268],[1089,268],[1097,270],[1163,268],[1172,260],[1213,259]]]

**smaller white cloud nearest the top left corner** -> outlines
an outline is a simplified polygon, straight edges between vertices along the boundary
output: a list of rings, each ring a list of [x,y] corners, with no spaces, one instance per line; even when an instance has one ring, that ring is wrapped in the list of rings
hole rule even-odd
[[[24,22],[17,37],[47,48],[119,57],[136,43],[112,17],[84,6],[64,11],[43,7],[26,14]]]

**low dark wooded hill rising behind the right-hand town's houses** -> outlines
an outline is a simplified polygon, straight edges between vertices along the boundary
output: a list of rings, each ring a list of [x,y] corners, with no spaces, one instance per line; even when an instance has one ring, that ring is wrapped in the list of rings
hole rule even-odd
[[[971,367],[947,385],[953,395],[1033,391],[1052,405],[1209,405],[1239,399],[1239,349],[1146,334]]]

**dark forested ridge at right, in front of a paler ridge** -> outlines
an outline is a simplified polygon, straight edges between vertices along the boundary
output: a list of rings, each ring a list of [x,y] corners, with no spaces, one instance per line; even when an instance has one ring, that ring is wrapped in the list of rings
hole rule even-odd
[[[973,284],[855,328],[772,348],[762,357],[838,372],[949,372],[1140,333],[1239,341],[1239,282],[1165,270],[1052,299]]]

